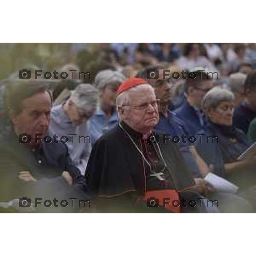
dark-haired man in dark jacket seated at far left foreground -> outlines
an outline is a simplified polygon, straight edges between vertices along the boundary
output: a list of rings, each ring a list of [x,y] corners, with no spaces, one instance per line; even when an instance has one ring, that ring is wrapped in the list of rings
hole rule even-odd
[[[52,107],[47,88],[32,80],[10,84],[5,104],[12,128],[2,132],[0,144],[0,201],[32,196],[35,191],[47,195],[49,183],[68,189],[67,183],[81,180],[67,146],[44,140]],[[54,178],[56,183],[52,183]]]

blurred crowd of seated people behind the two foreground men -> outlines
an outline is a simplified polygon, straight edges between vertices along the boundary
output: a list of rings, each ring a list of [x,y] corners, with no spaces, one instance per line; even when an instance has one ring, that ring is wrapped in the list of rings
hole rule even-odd
[[[199,170],[195,178],[211,172],[211,164],[215,164],[214,172],[223,177],[224,173],[249,169],[244,183],[241,172],[230,180],[241,181],[244,197],[254,201],[255,155],[239,163],[237,157],[256,140],[256,43],[10,43],[0,44],[0,52],[1,121],[6,106],[5,89],[19,81],[19,70],[26,68],[32,74],[34,70],[90,73],[86,82],[77,76],[72,79],[72,75],[68,79],[39,79],[39,82],[52,92],[49,132],[58,134],[74,129],[77,134],[90,135],[92,145],[118,122],[119,85],[134,76],[148,79],[148,70],[158,70],[159,83],[148,80],[161,102],[158,110],[162,119],[157,128],[188,136],[201,130],[210,136],[219,134],[218,148],[203,143],[196,151],[191,149],[190,158],[203,163],[196,163]],[[163,70],[181,73],[198,68],[217,72],[218,76],[194,82],[163,79]],[[212,91],[213,87],[218,90]],[[175,124],[182,131],[172,127]],[[91,148],[68,146],[71,159],[83,175]],[[202,169],[206,171],[201,172]]]

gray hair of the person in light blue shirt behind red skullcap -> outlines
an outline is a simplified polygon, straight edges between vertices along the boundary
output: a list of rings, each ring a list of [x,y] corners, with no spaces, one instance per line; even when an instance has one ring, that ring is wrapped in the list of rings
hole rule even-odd
[[[94,84],[97,89],[104,90],[105,86],[110,83],[120,83],[125,81],[125,76],[119,71],[102,70],[95,76]]]

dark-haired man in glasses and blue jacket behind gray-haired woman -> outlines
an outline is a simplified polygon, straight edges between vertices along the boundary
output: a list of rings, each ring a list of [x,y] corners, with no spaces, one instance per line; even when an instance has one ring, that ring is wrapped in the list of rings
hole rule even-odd
[[[187,77],[185,84],[185,96],[186,100],[177,108],[174,112],[182,119],[189,128],[186,136],[194,136],[198,131],[204,128],[205,116],[201,110],[201,102],[206,93],[211,90],[214,85],[212,77],[203,70],[195,69],[189,70],[189,72],[195,72],[195,79]]]

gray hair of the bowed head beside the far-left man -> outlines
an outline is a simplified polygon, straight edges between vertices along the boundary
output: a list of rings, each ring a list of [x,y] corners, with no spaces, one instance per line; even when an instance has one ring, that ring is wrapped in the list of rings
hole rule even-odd
[[[70,100],[83,110],[93,110],[97,106],[98,90],[91,84],[79,84],[72,92]]]

